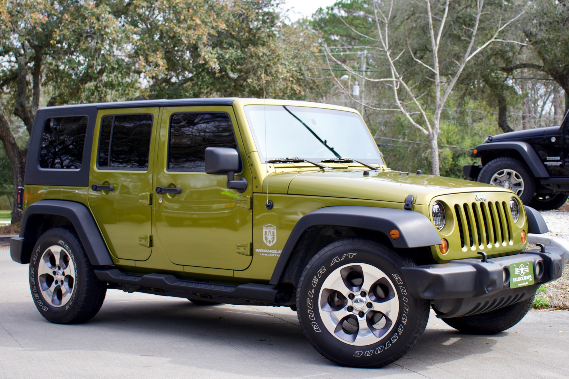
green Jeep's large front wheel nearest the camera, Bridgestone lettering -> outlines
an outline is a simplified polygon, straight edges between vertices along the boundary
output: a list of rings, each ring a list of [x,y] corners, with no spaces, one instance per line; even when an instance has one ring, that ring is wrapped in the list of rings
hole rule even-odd
[[[401,268],[412,265],[365,239],[342,239],[321,249],[304,268],[296,293],[300,326],[314,348],[352,367],[381,367],[404,356],[429,315],[428,301],[405,288]]]

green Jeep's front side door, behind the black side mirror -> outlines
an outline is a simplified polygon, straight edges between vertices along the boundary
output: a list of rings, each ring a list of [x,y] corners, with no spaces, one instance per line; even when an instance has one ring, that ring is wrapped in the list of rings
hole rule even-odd
[[[153,194],[156,232],[175,264],[244,270],[251,263],[251,172],[245,166],[236,175],[249,182],[244,193],[228,189],[225,175],[205,173],[207,147],[244,151],[232,107],[164,108]]]

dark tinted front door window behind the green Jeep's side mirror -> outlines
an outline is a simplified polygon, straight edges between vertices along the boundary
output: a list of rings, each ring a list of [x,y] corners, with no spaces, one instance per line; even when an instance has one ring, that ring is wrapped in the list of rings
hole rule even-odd
[[[226,113],[181,113],[170,118],[168,170],[205,172],[205,148],[237,148]]]

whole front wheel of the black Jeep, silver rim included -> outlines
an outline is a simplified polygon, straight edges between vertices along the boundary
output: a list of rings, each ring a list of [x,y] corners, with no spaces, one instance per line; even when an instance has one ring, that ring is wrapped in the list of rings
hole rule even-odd
[[[535,193],[535,178],[530,169],[517,159],[504,157],[489,161],[480,170],[478,181],[504,187],[505,185],[498,184],[498,181],[500,181],[500,177],[507,178],[508,174],[513,174],[514,181],[521,182],[523,185],[521,190],[515,187],[510,189],[518,195],[522,203],[529,204]]]

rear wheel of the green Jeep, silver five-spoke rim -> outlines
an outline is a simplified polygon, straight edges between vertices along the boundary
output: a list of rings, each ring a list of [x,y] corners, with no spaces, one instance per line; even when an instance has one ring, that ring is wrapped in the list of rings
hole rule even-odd
[[[53,228],[40,236],[30,260],[30,290],[44,318],[57,324],[85,322],[101,309],[106,288],[73,229]]]

